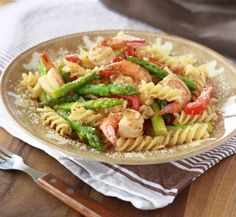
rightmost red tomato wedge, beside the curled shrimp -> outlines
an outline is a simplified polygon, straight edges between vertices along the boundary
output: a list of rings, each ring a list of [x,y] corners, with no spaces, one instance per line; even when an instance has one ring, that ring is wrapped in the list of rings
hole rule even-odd
[[[197,100],[188,103],[184,111],[189,115],[202,114],[209,103],[212,94],[212,89],[212,85],[207,84],[206,87],[203,89],[201,95],[197,98]]]

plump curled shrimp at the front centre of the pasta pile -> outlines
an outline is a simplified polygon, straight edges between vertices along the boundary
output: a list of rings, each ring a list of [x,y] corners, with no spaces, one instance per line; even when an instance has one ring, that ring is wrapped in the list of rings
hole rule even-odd
[[[136,138],[143,134],[144,119],[133,109],[126,109],[123,113],[110,114],[100,125],[105,137],[115,145],[117,135],[124,138]]]

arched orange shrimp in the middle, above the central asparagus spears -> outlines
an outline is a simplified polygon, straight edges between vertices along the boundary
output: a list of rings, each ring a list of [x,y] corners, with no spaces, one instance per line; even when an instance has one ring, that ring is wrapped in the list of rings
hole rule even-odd
[[[146,82],[152,81],[152,77],[146,69],[142,68],[136,63],[127,60],[111,63],[103,67],[103,69],[101,69],[99,73],[103,76],[111,76],[117,74],[129,76],[133,79],[135,84],[140,84],[141,80],[144,80]]]

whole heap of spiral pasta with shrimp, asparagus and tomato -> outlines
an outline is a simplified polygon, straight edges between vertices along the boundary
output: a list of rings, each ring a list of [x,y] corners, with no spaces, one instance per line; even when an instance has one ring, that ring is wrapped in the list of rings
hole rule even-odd
[[[118,33],[62,58],[40,54],[20,85],[41,123],[97,151],[149,151],[206,139],[218,119],[207,64],[171,44]]]

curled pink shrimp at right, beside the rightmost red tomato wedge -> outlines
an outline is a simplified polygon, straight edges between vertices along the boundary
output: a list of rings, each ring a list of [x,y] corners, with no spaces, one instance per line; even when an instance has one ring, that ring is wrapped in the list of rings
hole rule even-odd
[[[168,113],[172,114],[175,112],[179,113],[186,107],[186,105],[191,99],[191,93],[188,87],[174,74],[168,75],[160,83],[182,90],[181,102],[174,101],[172,103],[167,104],[161,110],[163,114],[168,114]]]

